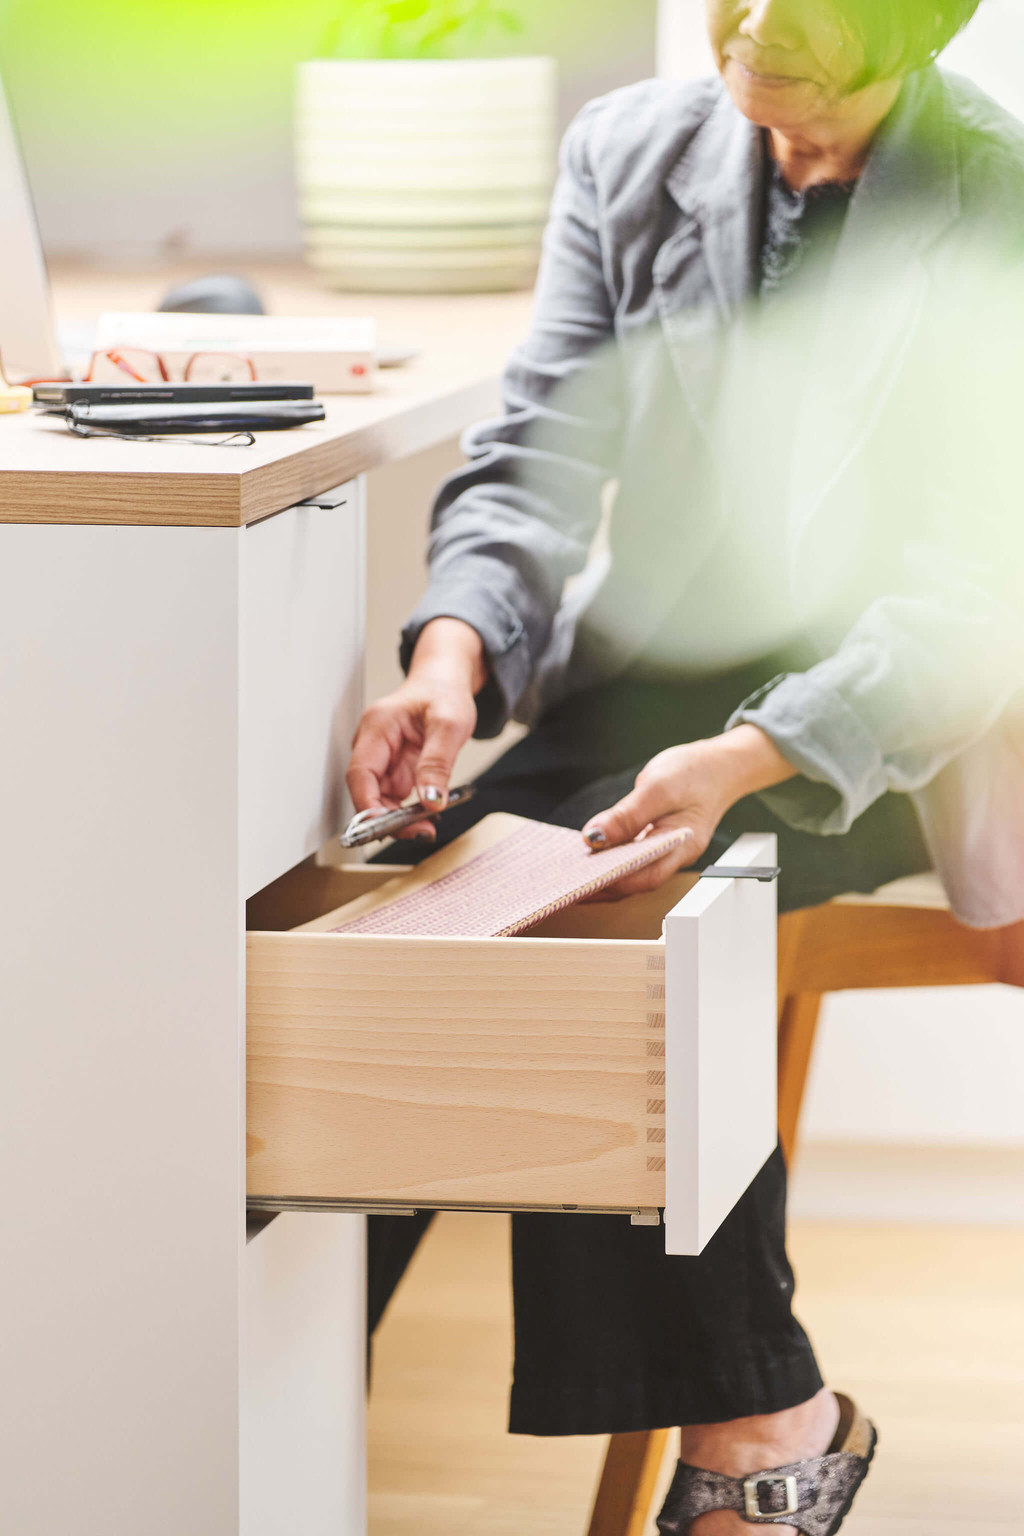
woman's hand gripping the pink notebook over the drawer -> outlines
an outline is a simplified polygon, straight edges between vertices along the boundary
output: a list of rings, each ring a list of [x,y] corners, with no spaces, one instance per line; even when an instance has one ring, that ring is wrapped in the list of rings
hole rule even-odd
[[[594,900],[654,891],[679,869],[700,859],[725,813],[748,794],[792,779],[797,770],[757,725],[737,725],[723,736],[659,753],[636,779],[636,786],[611,809],[593,816],[583,828],[591,848],[614,848],[642,833],[679,828],[686,837],[657,863],[626,876]]]

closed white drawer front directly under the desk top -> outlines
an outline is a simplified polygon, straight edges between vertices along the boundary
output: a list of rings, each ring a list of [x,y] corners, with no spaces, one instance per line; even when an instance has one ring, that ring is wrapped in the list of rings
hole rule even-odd
[[[335,507],[290,507],[243,533],[241,877],[246,895],[319,848],[345,817],[362,707],[362,484]]]

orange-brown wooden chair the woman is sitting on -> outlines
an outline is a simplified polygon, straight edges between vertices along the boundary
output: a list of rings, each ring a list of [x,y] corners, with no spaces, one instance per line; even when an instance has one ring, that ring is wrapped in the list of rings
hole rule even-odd
[[[949,911],[935,876],[847,895],[778,922],[778,1134],[797,1146],[824,992],[858,988],[1024,986],[1024,923],[978,931]],[[646,1536],[671,1430],[613,1435],[588,1536]]]

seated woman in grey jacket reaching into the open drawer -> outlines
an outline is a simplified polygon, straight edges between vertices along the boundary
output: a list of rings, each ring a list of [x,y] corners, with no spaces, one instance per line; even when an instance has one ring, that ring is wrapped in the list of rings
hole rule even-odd
[[[1024,915],[1016,519],[975,452],[1003,398],[966,389],[950,430],[935,389],[1021,270],[1021,132],[932,66],[975,6],[708,0],[722,80],[580,114],[505,415],[442,487],[407,680],[356,736],[359,809],[444,805],[514,711],[530,736],[445,837],[490,809],[594,848],[683,828],[623,895],[775,829],[785,906],[935,862],[967,920]],[[375,1227],[376,1315],[408,1232]],[[697,1260],[516,1215],[513,1279],[514,1432],[680,1424],[663,1531],[838,1530],[874,1430],[792,1316],[778,1152]]]

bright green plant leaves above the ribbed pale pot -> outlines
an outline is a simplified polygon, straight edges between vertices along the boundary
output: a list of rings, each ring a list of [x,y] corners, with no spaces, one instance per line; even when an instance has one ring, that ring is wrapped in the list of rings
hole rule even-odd
[[[444,58],[453,43],[477,46],[522,31],[496,0],[344,0],[324,32],[324,58]]]

